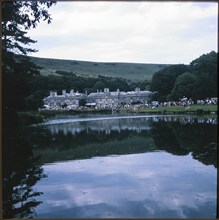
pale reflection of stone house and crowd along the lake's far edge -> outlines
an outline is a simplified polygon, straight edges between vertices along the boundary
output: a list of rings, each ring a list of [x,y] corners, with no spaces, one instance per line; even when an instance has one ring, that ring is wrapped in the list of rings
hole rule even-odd
[[[79,118],[79,119],[58,119],[47,122],[47,128],[52,134],[57,134],[60,131],[64,135],[67,133],[76,134],[82,131],[89,130],[105,132],[110,134],[111,131],[129,130],[141,133],[149,130],[148,122],[179,122],[180,124],[217,124],[217,117],[212,118],[194,118],[194,116],[121,116],[121,117],[100,117],[100,118]]]

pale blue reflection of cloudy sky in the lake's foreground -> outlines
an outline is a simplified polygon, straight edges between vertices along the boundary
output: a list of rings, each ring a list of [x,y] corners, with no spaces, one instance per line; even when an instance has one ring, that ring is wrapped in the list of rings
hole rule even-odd
[[[152,152],[43,166],[38,217],[215,218],[216,169]]]

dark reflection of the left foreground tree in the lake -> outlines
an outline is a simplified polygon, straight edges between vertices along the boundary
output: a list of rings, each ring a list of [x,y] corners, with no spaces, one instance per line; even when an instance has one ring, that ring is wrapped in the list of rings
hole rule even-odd
[[[26,131],[3,132],[3,218],[34,217],[41,203],[36,197],[42,193],[33,187],[46,175],[36,165],[39,158],[33,156]]]

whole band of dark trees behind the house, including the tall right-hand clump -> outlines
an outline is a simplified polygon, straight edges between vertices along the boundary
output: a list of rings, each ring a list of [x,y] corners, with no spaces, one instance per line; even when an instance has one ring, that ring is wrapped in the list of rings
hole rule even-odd
[[[26,58],[19,56],[17,59]],[[30,68],[31,65],[28,65]],[[190,65],[165,67],[156,72],[151,81],[130,82],[100,75],[85,78],[65,70],[56,71],[58,76],[42,76],[36,70],[35,74],[28,73],[25,68],[3,77],[7,104],[17,111],[36,110],[42,107],[42,100],[49,95],[49,91],[61,94],[63,89],[89,94],[103,91],[104,88],[110,91],[131,91],[139,87],[141,90],[156,91],[152,99],[159,102],[177,101],[183,97],[193,100],[217,97],[217,53],[214,51],[193,60]]]

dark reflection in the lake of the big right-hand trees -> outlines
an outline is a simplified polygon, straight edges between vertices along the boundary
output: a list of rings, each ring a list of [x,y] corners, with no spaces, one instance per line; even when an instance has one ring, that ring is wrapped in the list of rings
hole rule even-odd
[[[156,147],[174,155],[192,154],[205,165],[217,167],[217,125],[213,120],[193,119],[190,122],[159,120],[151,124]]]

